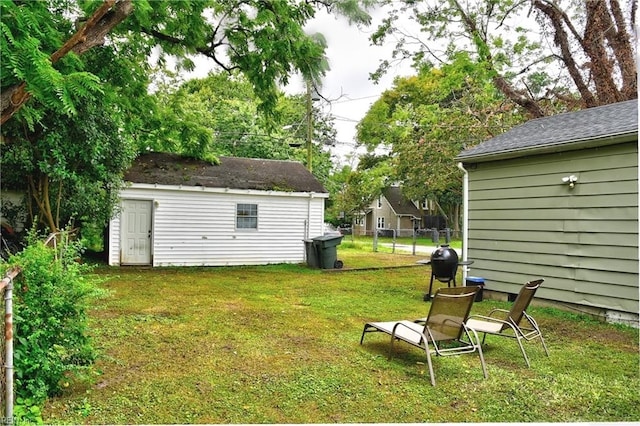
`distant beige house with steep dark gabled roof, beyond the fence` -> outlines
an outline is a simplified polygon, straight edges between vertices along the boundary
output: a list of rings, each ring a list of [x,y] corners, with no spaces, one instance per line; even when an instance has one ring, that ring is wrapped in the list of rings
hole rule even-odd
[[[385,189],[371,204],[361,221],[359,234],[372,235],[373,230],[387,231],[389,236],[413,236],[414,227],[420,227],[420,210],[413,201],[402,196],[398,186]],[[357,225],[356,225],[357,226]]]

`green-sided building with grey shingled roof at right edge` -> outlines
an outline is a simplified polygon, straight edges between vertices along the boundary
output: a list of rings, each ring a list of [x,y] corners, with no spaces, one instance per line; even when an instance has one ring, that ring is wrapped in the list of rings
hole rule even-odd
[[[528,121],[460,153],[471,275],[638,319],[638,102]]]

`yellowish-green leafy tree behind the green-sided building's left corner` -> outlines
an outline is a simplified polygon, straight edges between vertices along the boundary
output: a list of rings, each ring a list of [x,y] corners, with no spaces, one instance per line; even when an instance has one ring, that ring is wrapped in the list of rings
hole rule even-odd
[[[424,64],[418,75],[396,79],[358,124],[357,138],[370,151],[387,148],[403,194],[434,201],[431,213],[457,229],[462,179],[455,156],[522,119],[483,66],[456,54],[451,64]]]

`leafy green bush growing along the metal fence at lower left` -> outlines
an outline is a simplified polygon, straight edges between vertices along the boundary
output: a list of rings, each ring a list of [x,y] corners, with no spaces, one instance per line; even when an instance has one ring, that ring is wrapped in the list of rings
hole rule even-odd
[[[14,368],[17,412],[36,413],[73,377],[91,371],[96,351],[88,336],[86,309],[96,294],[79,246],[54,249],[31,236],[4,268],[20,266],[14,281]],[[62,248],[60,248],[62,247]]]

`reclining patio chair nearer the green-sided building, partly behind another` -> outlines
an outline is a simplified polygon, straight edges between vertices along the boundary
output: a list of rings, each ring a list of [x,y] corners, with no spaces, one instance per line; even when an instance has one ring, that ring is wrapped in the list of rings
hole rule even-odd
[[[522,351],[522,356],[524,356],[524,361],[527,363],[527,367],[531,365],[529,364],[529,358],[522,345],[523,340],[530,341],[540,338],[542,347],[547,356],[549,356],[549,350],[544,342],[540,327],[535,319],[526,312],[531,300],[533,300],[536,290],[540,288],[543,282],[543,279],[538,279],[522,286],[520,293],[518,293],[509,311],[505,309],[493,309],[489,312],[488,316],[471,315],[467,321],[467,327],[474,329],[478,333],[483,333],[482,344],[484,344],[487,334],[516,339]],[[494,315],[498,315],[501,318]]]

